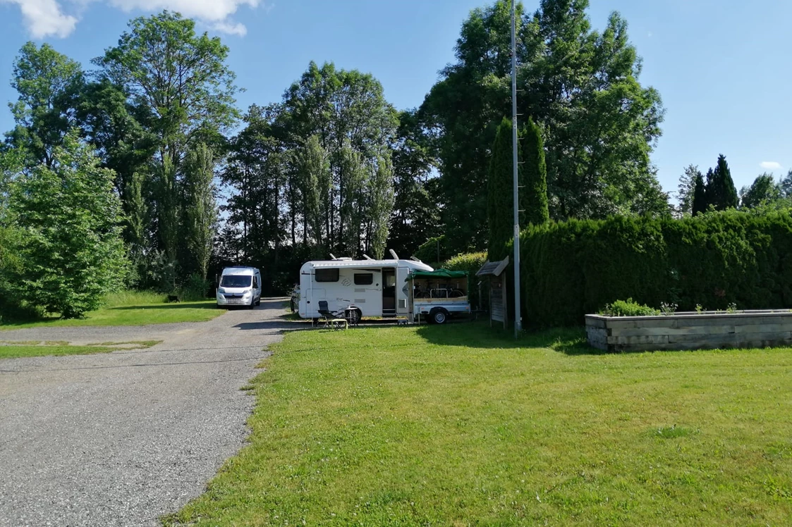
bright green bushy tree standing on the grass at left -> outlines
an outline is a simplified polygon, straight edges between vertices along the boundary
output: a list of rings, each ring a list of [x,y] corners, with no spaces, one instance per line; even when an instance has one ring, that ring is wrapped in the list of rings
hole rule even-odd
[[[18,298],[74,318],[97,309],[106,293],[123,286],[121,208],[113,178],[75,132],[53,147],[49,165],[18,176],[11,190],[13,221],[24,233],[14,248]]]

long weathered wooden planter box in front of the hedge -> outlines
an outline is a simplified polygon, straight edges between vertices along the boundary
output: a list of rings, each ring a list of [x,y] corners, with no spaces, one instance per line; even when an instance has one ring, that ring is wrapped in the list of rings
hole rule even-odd
[[[586,315],[586,335],[589,344],[607,351],[792,346],[792,311]]]

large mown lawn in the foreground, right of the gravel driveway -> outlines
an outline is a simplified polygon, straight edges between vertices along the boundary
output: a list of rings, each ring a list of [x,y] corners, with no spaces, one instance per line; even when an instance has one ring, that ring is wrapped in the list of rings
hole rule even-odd
[[[250,444],[166,525],[788,525],[792,351],[577,330],[288,334]]]

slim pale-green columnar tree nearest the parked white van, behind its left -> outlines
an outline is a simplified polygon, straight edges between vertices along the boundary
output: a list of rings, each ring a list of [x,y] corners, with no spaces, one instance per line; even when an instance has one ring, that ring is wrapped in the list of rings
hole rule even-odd
[[[215,159],[204,144],[190,150],[185,170],[187,245],[201,279],[206,279],[217,227]]]

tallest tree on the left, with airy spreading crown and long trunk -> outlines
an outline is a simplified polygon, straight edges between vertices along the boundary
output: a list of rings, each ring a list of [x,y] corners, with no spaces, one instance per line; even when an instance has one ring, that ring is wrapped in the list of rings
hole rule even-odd
[[[93,61],[155,138],[150,173],[157,181],[150,208],[157,212],[159,246],[171,264],[183,248],[174,233],[183,230],[185,218],[175,213],[185,191],[185,156],[200,142],[220,142],[219,134],[238,118],[228,51],[219,38],[196,34],[194,21],[163,11],[130,21],[116,47]]]

